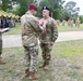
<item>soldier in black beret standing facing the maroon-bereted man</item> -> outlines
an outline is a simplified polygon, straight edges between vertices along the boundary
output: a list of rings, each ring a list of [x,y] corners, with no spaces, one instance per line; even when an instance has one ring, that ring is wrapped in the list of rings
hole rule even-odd
[[[50,52],[55,41],[58,38],[58,28],[56,26],[56,21],[49,16],[49,8],[43,6],[43,18],[40,22],[46,24],[46,31],[40,36],[40,48],[44,63],[40,68],[48,69],[50,62]]]

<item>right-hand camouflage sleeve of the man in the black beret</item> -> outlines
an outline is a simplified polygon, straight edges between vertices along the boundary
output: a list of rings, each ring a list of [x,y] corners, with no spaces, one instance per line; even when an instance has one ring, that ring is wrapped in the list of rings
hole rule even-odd
[[[58,27],[55,19],[52,19],[52,27],[51,27],[51,41],[55,42],[58,38]]]

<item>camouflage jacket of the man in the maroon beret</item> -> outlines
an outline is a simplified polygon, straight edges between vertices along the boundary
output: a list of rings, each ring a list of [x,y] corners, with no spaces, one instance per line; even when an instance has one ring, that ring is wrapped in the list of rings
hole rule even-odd
[[[22,43],[25,46],[33,46],[37,44],[37,36],[42,32],[38,26],[38,21],[35,16],[26,13],[22,16]]]

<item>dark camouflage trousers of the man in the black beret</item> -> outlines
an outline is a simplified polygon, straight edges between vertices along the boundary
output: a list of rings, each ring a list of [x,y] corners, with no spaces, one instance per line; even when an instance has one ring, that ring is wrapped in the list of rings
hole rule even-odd
[[[52,45],[50,43],[40,43],[40,48],[44,63],[48,65],[50,62],[50,52]]]

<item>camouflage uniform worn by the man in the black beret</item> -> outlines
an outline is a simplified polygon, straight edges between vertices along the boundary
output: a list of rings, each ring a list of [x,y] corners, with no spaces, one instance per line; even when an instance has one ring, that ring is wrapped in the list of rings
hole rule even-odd
[[[40,21],[44,21],[42,18]],[[51,42],[55,42],[58,38],[58,29],[56,27],[56,21],[51,17],[48,17],[46,25],[46,31],[42,33],[40,36],[40,48],[42,48],[42,54],[44,64],[49,64],[50,62],[50,52],[51,52]]]

